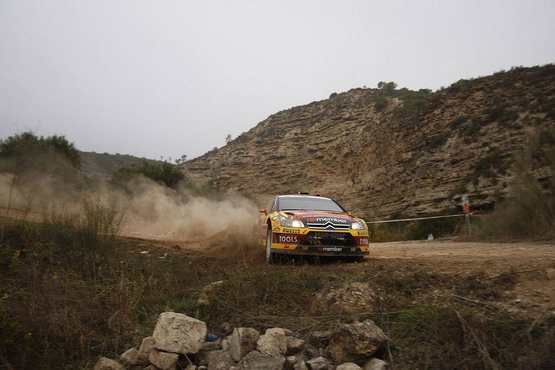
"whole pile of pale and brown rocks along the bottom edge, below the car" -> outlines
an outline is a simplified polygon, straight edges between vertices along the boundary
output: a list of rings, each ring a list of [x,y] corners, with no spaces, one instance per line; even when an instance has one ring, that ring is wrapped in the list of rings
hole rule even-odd
[[[206,323],[185,314],[164,312],[151,337],[125,351],[116,362],[101,357],[94,370],[381,370],[387,364],[372,358],[387,342],[371,320],[344,324],[335,331],[313,332],[308,340],[292,331],[235,328],[213,342]],[[125,366],[124,366],[125,365]]]

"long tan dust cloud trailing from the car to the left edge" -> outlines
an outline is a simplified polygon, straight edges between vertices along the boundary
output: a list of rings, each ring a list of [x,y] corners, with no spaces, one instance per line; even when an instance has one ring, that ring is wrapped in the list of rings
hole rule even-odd
[[[204,197],[142,177],[128,183],[126,190],[105,180],[87,181],[44,173],[27,173],[25,178],[0,173],[1,214],[40,222],[53,214],[82,212],[89,197],[123,212],[119,235],[124,238],[218,258],[263,256],[263,249],[254,245],[258,207],[236,192]]]

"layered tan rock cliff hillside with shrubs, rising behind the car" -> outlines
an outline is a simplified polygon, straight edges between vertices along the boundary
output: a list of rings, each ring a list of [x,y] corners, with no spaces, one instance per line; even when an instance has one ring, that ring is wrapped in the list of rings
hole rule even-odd
[[[354,89],[275,113],[182,169],[261,206],[276,194],[318,192],[367,220],[460,209],[464,194],[473,209],[489,209],[509,194],[531,135],[554,125],[554,94],[551,65],[435,93]],[[540,180],[552,175],[527,169]]]

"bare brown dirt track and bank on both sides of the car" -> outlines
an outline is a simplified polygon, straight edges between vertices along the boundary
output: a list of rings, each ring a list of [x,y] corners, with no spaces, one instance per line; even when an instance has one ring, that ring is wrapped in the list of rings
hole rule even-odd
[[[127,239],[148,247],[155,245],[175,252],[206,257],[230,258],[266,264],[263,249],[241,239],[220,238],[137,238]],[[364,272],[382,269],[406,273],[438,273],[457,281],[480,284],[479,297],[457,297],[475,304],[489,305],[527,316],[555,314],[555,241],[480,242],[476,240],[418,240],[370,245],[370,257],[356,264],[337,264],[337,269]],[[510,281],[510,283],[507,283]],[[447,288],[446,288],[447,289]],[[489,293],[491,292],[491,294]],[[444,295],[445,292],[438,292]]]

